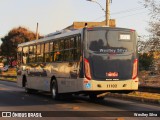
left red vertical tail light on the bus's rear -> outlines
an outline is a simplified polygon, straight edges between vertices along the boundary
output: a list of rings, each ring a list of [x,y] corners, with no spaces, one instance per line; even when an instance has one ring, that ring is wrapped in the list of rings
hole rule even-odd
[[[85,67],[85,76],[88,80],[91,80],[91,71],[90,71],[90,64],[87,59],[84,58],[84,67]]]

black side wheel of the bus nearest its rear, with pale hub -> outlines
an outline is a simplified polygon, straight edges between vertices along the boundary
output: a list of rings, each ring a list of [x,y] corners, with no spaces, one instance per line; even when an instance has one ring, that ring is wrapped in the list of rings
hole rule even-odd
[[[61,94],[58,93],[58,86],[57,86],[57,81],[53,80],[51,83],[51,94],[52,98],[54,100],[60,100],[61,99]]]

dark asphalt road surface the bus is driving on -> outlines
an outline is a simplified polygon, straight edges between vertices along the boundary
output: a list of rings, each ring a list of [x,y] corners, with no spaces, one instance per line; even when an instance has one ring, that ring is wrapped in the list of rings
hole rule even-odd
[[[26,94],[24,89],[19,88],[16,83],[0,81],[0,111],[36,111],[42,112],[48,111],[48,115],[64,115],[67,112],[70,115],[76,114],[76,116],[83,117],[74,117],[76,120],[99,120],[99,117],[103,120],[114,120],[118,118],[118,114],[130,114],[127,111],[138,111],[142,113],[145,111],[151,111],[153,113],[160,112],[160,106],[153,104],[143,104],[140,102],[119,100],[115,98],[106,97],[104,101],[101,102],[91,102],[87,97],[73,97],[72,99],[64,101],[54,101],[51,98],[51,95],[48,93],[36,93],[36,94]],[[52,111],[52,112],[49,112]],[[55,111],[55,112],[53,112]],[[61,111],[61,112],[56,112]],[[62,112],[63,111],[63,112]],[[76,111],[76,112],[75,112]],[[83,111],[83,112],[80,112]],[[84,112],[85,111],[85,112]],[[91,112],[94,111],[94,112]],[[95,112],[97,111],[97,112]],[[99,112],[102,111],[102,112]],[[112,112],[109,112],[112,111]],[[119,111],[119,112],[118,112]],[[125,111],[125,112],[124,112]],[[79,112],[79,113],[77,113]],[[110,117],[103,116],[103,112],[108,112],[111,114]],[[47,114],[46,112],[44,114]],[[93,117],[94,115],[99,115],[99,117]],[[131,113],[133,114],[133,113]],[[74,116],[73,115],[73,116]],[[88,115],[90,117],[85,117]],[[93,116],[92,116],[93,115]],[[102,116],[101,116],[102,115]],[[115,115],[115,116],[114,116]],[[124,117],[122,117],[124,118]],[[0,118],[0,120],[8,120],[9,118]],[[20,118],[19,118],[20,119]],[[31,118],[23,118],[30,119]],[[34,118],[32,118],[34,119]],[[46,118],[37,118],[48,120]],[[57,117],[56,120],[70,120],[71,117]],[[73,117],[72,117],[73,119]],[[125,120],[158,120],[158,117],[125,117]],[[10,120],[18,120],[18,118],[10,118]]]

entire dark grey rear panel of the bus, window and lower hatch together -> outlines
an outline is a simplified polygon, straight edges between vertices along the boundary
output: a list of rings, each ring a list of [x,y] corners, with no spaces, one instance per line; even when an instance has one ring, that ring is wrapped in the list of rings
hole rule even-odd
[[[135,31],[101,28],[87,31],[85,58],[90,62],[92,78],[124,80],[132,78],[136,52]],[[108,74],[113,73],[113,76]]]

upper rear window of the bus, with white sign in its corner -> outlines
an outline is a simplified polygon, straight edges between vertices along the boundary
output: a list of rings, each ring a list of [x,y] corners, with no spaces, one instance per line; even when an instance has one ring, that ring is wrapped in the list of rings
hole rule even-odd
[[[132,33],[116,30],[90,30],[88,49],[98,54],[123,54],[133,50]]]

